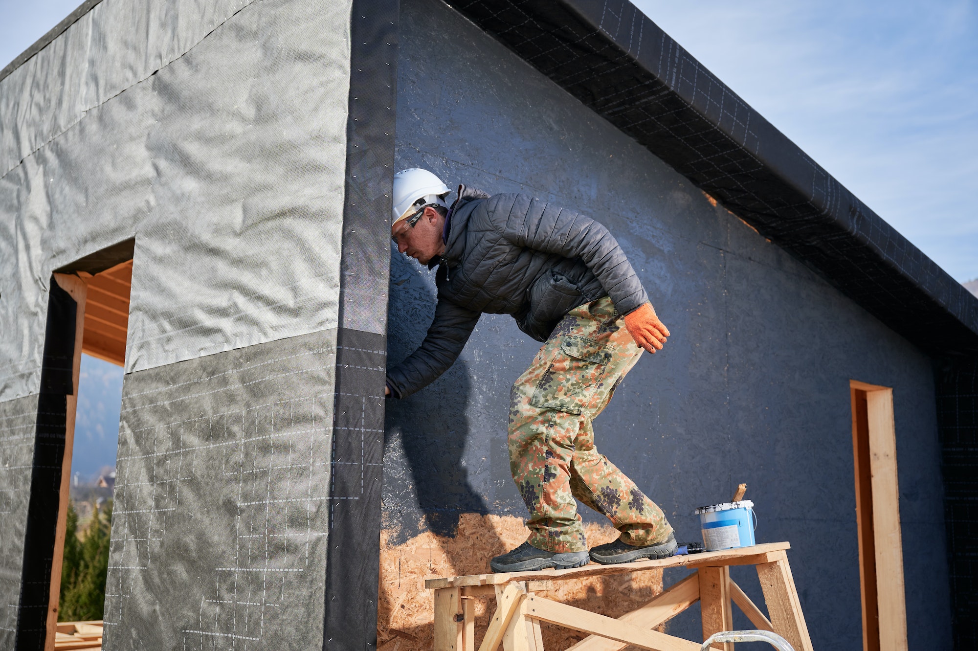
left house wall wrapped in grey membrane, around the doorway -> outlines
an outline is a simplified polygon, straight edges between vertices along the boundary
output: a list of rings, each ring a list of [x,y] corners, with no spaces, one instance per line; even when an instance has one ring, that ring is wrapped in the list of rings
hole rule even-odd
[[[105,648],[324,643],[331,499],[360,499],[332,472],[335,369],[358,406],[383,377],[385,297],[339,308],[351,7],[104,0],[0,80],[0,649],[51,274],[133,237]]]

